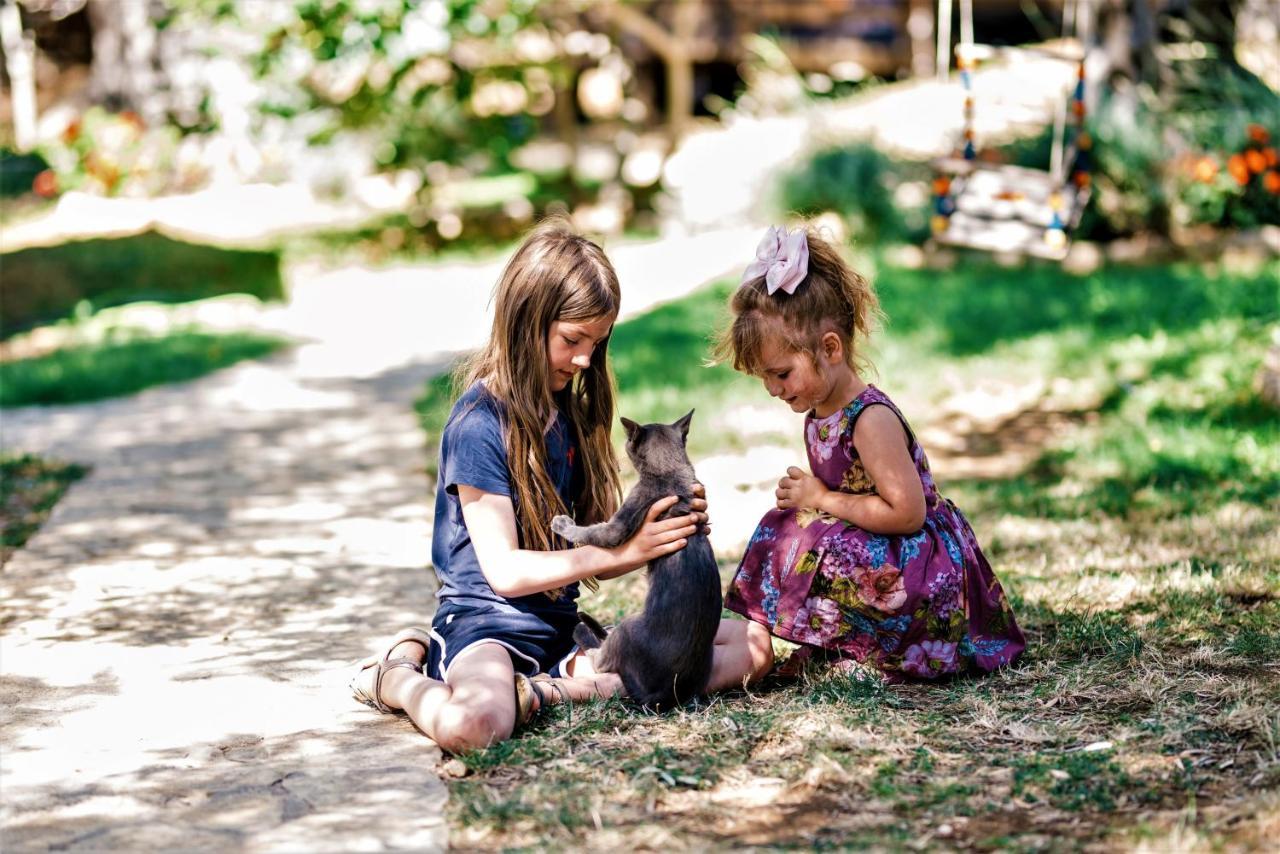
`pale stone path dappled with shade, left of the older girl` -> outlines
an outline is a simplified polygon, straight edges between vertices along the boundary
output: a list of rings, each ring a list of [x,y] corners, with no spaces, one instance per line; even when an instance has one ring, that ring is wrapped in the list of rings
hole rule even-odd
[[[611,248],[625,312],[758,237]],[[3,414],[5,449],[92,466],[0,572],[5,850],[447,844],[439,752],[346,681],[434,608],[411,403],[481,343],[499,269],[293,271],[255,318],[288,353]]]

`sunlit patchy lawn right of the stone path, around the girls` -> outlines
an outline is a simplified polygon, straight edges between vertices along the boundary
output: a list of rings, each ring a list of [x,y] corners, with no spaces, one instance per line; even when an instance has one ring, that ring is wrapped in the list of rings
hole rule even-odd
[[[557,708],[462,757],[453,844],[1272,842],[1280,414],[1258,402],[1253,378],[1280,323],[1280,264],[1073,277],[1050,265],[938,274],[869,262],[890,318],[876,382],[922,435],[955,439],[936,455],[941,487],[1011,595],[1025,658],[942,685],[810,671],[667,716],[617,700]],[[756,382],[696,367],[731,287],[620,324],[611,353],[622,412],[671,420],[691,406],[763,403]],[[992,387],[1033,393],[991,423],[973,392]],[[429,444],[447,398],[436,383],[420,406]],[[1027,439],[1029,421],[1051,429]],[[695,419],[691,451],[696,463],[772,440],[749,423]],[[966,471],[973,448],[1014,442],[1034,444],[1014,475],[947,476]],[[722,566],[726,581],[732,570]],[[636,574],[582,607],[634,611],[643,592]]]

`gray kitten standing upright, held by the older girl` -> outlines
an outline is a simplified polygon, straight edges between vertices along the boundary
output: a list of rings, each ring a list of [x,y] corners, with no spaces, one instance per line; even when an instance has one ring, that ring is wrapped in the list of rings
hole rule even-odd
[[[552,530],[572,543],[613,548],[640,529],[659,498],[680,497],[660,519],[687,513],[696,480],[685,452],[692,417],[690,410],[675,424],[643,426],[622,419],[627,456],[640,483],[609,521],[579,528],[568,516],[557,516]],[[654,709],[669,708],[707,693],[719,616],[719,571],[707,535],[699,531],[685,548],[649,562],[643,613],[627,617],[608,635],[595,620],[580,613],[582,622],[573,639],[582,649],[599,647],[591,656],[596,670],[618,673],[634,700]]]

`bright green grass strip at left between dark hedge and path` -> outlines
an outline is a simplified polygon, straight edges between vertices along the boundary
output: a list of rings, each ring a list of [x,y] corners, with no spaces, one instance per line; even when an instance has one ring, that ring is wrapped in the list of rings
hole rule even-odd
[[[0,406],[79,403],[202,376],[284,346],[253,333],[177,329],[161,337],[116,330],[31,359],[0,362]]]

